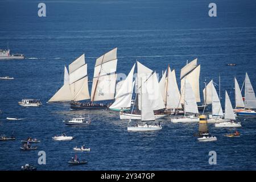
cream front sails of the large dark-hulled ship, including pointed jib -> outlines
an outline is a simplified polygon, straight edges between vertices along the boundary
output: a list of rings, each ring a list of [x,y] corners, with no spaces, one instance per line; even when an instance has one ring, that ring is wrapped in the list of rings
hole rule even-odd
[[[64,85],[48,102],[70,102],[89,99],[87,64],[84,54],[64,68]]]

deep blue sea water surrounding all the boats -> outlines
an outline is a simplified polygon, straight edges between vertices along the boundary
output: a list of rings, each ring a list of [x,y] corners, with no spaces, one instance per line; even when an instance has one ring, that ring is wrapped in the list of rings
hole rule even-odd
[[[96,57],[118,47],[118,73],[127,74],[136,60],[162,73],[170,64],[179,78],[186,61],[198,58],[200,88],[204,80],[218,83],[234,105],[234,76],[240,86],[248,73],[256,89],[255,1],[214,1],[217,17],[208,16],[212,1],[44,1],[47,16],[39,18],[39,1],[0,2],[0,47],[24,53],[24,60],[0,61],[0,134],[16,140],[0,142],[0,170],[19,170],[31,163],[39,170],[255,170],[256,118],[242,118],[240,138],[227,138],[233,129],[209,125],[216,142],[199,143],[192,137],[197,124],[175,124],[162,119],[163,130],[129,133],[127,121],[109,110],[73,111],[68,104],[47,104],[63,84],[64,64],[85,53],[89,80]],[[227,67],[236,63],[236,67]],[[178,82],[179,79],[178,79]],[[201,92],[201,95],[203,93]],[[22,98],[39,98],[42,107],[18,106]],[[67,127],[63,120],[90,114],[89,127]],[[6,117],[25,118],[7,121]],[[71,142],[51,139],[62,132]],[[37,151],[20,151],[28,136],[42,142]],[[75,146],[92,148],[76,153]],[[39,166],[38,151],[46,152]],[[217,164],[209,165],[209,151],[217,152]],[[70,167],[77,154],[84,166]]]

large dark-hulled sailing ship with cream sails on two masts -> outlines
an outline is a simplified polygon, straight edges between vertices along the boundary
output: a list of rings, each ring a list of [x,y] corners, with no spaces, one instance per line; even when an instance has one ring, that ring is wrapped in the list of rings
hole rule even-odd
[[[98,101],[114,99],[117,78],[117,48],[98,57],[94,67],[92,92],[89,94],[87,64],[81,55],[64,69],[64,85],[48,102],[71,102],[71,109],[107,109]],[[89,102],[81,102],[90,100]]]

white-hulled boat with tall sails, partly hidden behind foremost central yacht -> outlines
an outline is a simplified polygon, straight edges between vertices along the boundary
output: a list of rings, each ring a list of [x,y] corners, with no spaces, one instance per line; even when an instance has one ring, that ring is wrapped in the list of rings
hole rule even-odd
[[[147,92],[148,92],[148,99],[150,100],[150,104],[152,109],[155,111],[155,118],[160,119],[167,116],[167,114],[163,114],[159,112],[165,108],[162,94],[160,93],[159,82],[156,76],[156,73],[145,67],[143,64],[137,61],[137,100],[135,101],[137,104],[136,110],[131,111],[120,111],[120,119],[141,119],[141,83],[147,81],[145,85]],[[135,103],[134,103],[135,104]]]

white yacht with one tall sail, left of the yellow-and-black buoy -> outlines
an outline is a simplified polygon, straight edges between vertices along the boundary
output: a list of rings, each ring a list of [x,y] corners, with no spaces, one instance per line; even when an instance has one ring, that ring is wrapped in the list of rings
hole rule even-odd
[[[195,114],[199,114],[196,104],[195,94],[191,84],[187,79],[184,80],[184,88],[181,94],[184,92],[184,116],[181,118],[173,118],[171,122],[199,122],[199,118]],[[188,114],[190,113],[190,114]],[[193,114],[191,114],[193,113]]]

